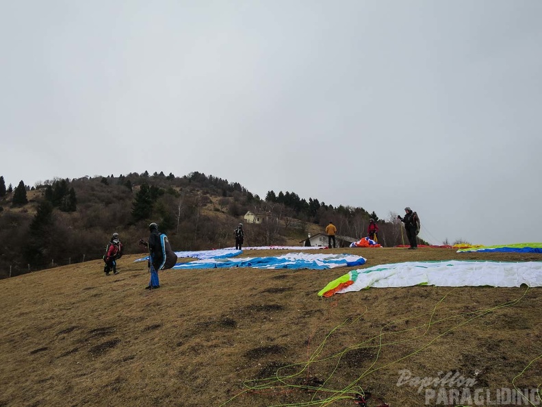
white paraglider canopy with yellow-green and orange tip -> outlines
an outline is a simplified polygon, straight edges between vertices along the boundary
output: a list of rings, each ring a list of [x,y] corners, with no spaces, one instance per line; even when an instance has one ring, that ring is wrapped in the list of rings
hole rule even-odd
[[[335,293],[360,291],[369,287],[495,286],[517,287],[527,284],[542,286],[542,262],[404,262],[383,264],[368,269],[352,270],[333,280],[319,293],[331,297]]]

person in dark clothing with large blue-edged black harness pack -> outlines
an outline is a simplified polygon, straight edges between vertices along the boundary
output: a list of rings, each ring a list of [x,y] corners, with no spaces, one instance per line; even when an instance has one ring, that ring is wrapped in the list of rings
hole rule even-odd
[[[172,251],[168,236],[158,232],[158,225],[151,223],[149,225],[149,242],[140,240],[140,245],[149,247],[149,268],[151,271],[151,281],[146,288],[160,288],[158,280],[158,270],[171,269],[177,263],[177,254]]]

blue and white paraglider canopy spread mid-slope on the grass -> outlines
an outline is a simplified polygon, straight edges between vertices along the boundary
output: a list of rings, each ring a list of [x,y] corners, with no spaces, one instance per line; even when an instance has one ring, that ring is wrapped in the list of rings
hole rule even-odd
[[[278,257],[233,258],[229,260],[205,259],[175,265],[173,269],[216,269],[251,267],[253,269],[334,269],[365,264],[365,258],[351,254],[289,253]]]

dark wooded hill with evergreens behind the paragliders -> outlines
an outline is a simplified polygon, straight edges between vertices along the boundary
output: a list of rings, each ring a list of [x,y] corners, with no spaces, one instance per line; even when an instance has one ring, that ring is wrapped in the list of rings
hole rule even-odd
[[[266,214],[261,224],[246,223],[246,212]],[[324,232],[329,221],[339,235],[366,236],[369,219],[378,222],[379,243],[403,243],[401,224],[392,216],[352,206],[333,207],[296,193],[268,191],[265,199],[238,182],[193,172],[163,172],[55,179],[7,188],[0,176],[0,278],[96,260],[112,233],[126,254],[142,253],[140,238],[157,222],[175,251],[232,247],[233,229],[244,223],[245,245],[300,245],[307,233]]]

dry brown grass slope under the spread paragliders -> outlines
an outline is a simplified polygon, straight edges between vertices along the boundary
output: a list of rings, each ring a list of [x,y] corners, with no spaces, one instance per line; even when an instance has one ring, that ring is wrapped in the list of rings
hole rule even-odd
[[[429,248],[324,252],[361,254],[366,267],[542,260]],[[423,392],[397,386],[400,369],[421,377],[459,371],[477,387],[510,388],[542,354],[540,288],[415,286],[318,297],[349,270],[341,268],[163,271],[162,288],[147,291],[146,263],[133,263],[139,257],[119,260],[118,275],[103,275],[103,263],[92,261],[0,281],[0,406],[288,405],[340,395],[315,393],[319,386],[352,383],[391,406],[422,406]],[[315,352],[306,369],[288,367]],[[244,384],[277,371],[283,386]],[[540,360],[515,381],[541,382]],[[352,394],[343,395],[350,398],[313,405],[354,406]]]

